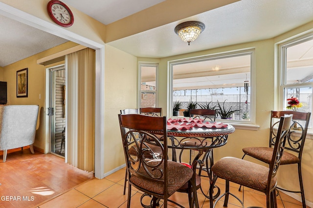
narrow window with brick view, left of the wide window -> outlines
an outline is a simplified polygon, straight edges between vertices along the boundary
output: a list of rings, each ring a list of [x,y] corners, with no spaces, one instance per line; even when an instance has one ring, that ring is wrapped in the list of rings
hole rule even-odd
[[[156,107],[157,86],[156,86],[157,64],[139,63],[139,107]]]

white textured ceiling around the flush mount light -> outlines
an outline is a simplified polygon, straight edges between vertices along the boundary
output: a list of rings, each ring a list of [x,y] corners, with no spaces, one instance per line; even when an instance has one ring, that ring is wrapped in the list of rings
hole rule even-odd
[[[175,33],[181,22],[205,24],[188,46]],[[136,57],[169,57],[273,38],[313,20],[313,0],[241,0],[109,44]]]

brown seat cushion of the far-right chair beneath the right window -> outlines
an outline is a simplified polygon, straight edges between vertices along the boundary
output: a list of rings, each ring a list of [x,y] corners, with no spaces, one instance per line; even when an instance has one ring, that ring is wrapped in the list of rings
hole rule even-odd
[[[244,153],[254,157],[258,160],[261,160],[267,164],[270,163],[273,155],[273,148],[270,147],[247,147],[243,149]],[[294,164],[298,163],[299,158],[287,151],[284,151],[284,154],[281,158],[281,165]]]

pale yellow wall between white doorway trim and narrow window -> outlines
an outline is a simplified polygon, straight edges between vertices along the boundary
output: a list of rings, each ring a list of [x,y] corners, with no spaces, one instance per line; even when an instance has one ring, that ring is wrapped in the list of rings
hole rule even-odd
[[[136,108],[137,58],[112,46],[105,47],[105,171],[125,164],[118,116]]]

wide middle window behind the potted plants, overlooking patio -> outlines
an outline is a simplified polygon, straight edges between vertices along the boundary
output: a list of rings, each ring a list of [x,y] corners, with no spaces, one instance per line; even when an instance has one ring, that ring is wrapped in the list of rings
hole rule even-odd
[[[218,109],[219,102],[238,110],[230,122],[253,123],[253,57],[251,49],[171,62],[172,103],[182,102],[179,115],[183,116],[189,102],[197,103],[198,109]]]

